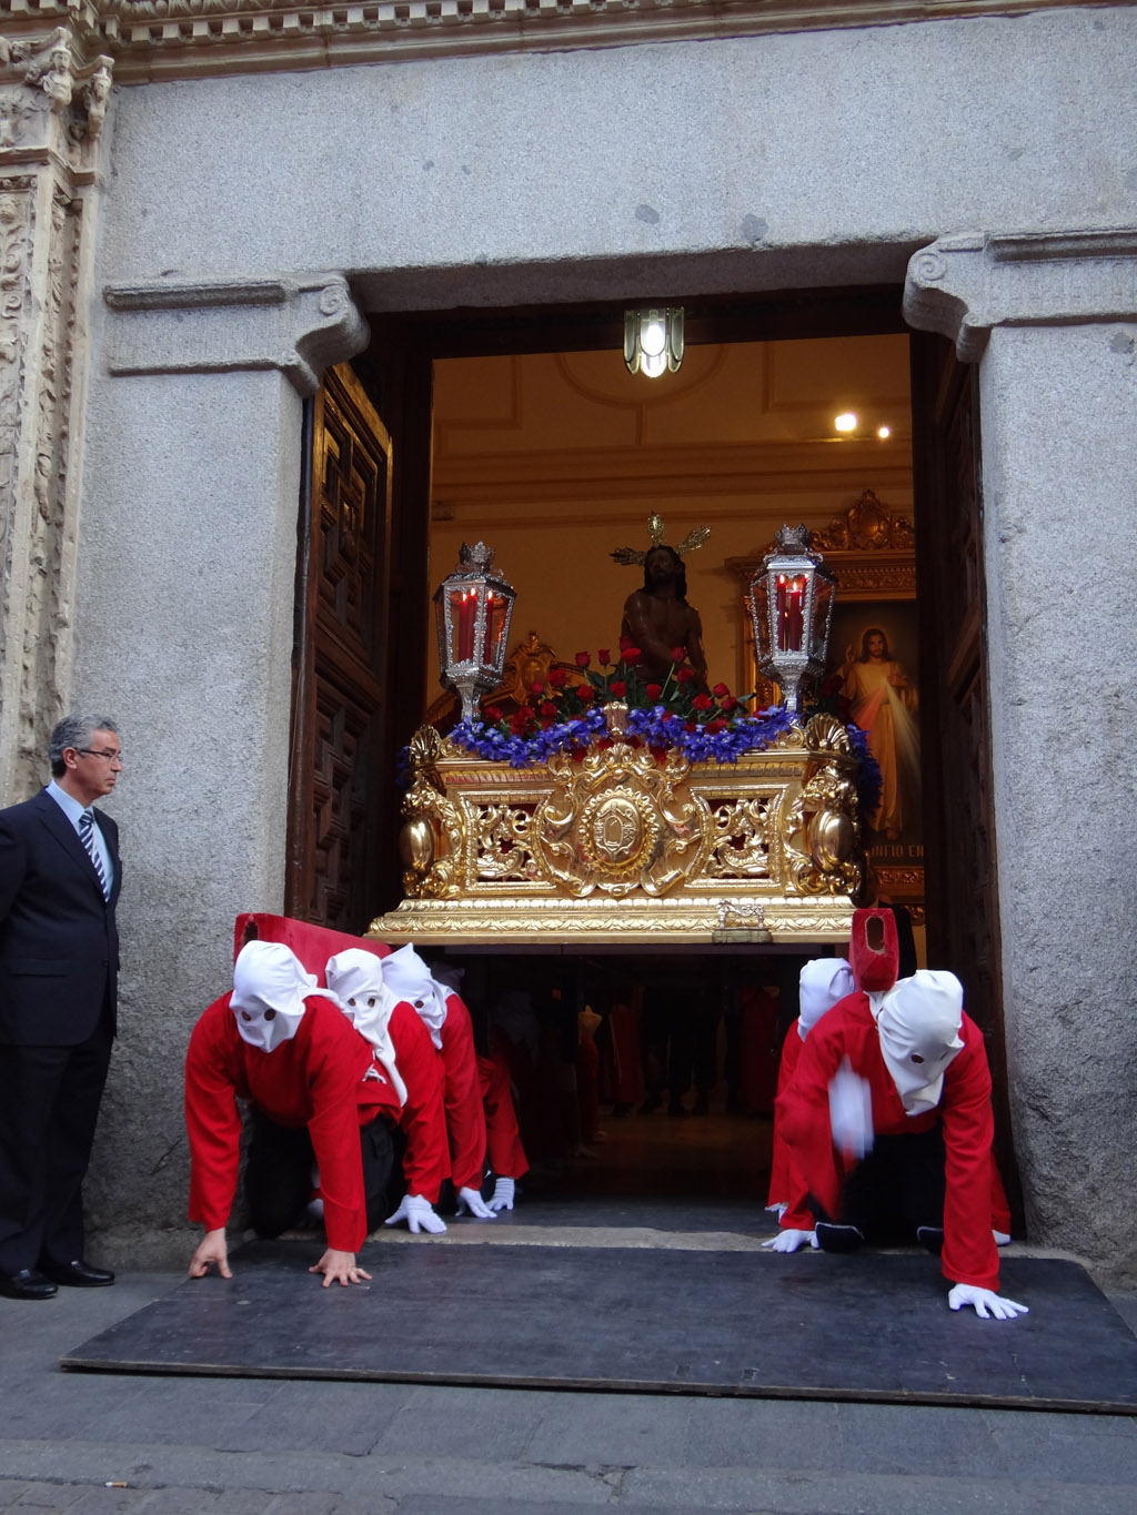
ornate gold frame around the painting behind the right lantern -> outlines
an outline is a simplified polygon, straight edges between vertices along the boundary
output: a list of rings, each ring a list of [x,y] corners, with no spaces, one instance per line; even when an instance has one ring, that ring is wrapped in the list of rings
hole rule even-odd
[[[776,686],[758,671],[753,645],[753,618],[750,615],[750,583],[763,568],[766,553],[773,551],[773,541],[755,556],[728,558],[729,568],[740,585],[738,662],[741,689],[755,689],[756,706],[769,704]],[[857,620],[866,626],[885,623],[891,629],[890,609],[911,606],[904,620],[916,632],[916,532],[911,520],[884,504],[872,489],[823,530],[813,533],[813,550],[819,551],[826,568],[837,576],[837,601],[834,609],[834,636],[826,676],[841,667],[844,638],[838,627],[847,621],[843,609],[857,606]],[[876,614],[873,606],[879,606]],[[916,659],[911,659],[911,665]],[[876,892],[893,904],[908,909],[916,924],[923,923],[923,827],[914,838],[899,842],[878,842],[869,848],[869,862],[876,883]]]

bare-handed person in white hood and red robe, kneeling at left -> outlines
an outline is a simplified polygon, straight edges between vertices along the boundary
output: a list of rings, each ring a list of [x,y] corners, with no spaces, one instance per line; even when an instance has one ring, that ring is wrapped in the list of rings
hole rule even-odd
[[[238,1098],[252,1106],[246,1194],[258,1235],[279,1236],[303,1214],[315,1162],[327,1250],[309,1273],[323,1274],[324,1288],[370,1279],[355,1254],[384,1214],[399,1095],[371,1044],[280,942],[241,948],[232,992],[190,1038],[190,1218],[206,1232],[190,1262],[194,1279],[214,1264],[232,1277],[226,1224],[240,1168]]]

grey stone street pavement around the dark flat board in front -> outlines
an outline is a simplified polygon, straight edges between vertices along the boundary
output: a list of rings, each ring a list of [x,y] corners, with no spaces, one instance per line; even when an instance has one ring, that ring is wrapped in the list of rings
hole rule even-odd
[[[62,1351],[180,1282],[133,1273],[0,1300],[0,1510],[1137,1509],[1129,1417],[59,1371]],[[1113,1298],[1134,1329],[1137,1297]]]

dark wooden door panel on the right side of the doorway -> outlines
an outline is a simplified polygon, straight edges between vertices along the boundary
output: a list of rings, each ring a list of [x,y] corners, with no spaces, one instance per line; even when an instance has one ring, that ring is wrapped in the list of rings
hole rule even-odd
[[[1017,1214],[987,701],[979,373],[928,333],[913,335],[913,423],[928,962],[960,977],[967,1014],[987,1038],[996,1154]]]

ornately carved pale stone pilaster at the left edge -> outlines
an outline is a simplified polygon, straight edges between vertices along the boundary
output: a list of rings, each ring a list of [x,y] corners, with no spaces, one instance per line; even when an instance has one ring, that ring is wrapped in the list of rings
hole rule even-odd
[[[73,397],[88,359],[89,186],[112,59],[96,15],[5,6],[0,38],[0,804],[65,709],[77,544]],[[53,26],[52,23],[59,24]]]

